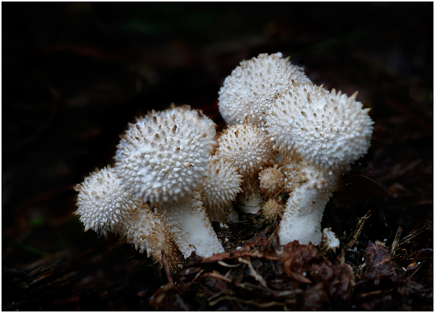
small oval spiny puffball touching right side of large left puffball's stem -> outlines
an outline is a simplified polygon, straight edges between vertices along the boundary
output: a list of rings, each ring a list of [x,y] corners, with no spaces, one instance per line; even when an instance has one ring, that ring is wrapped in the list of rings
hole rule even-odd
[[[232,202],[243,176],[238,174],[234,162],[213,156],[208,163],[208,172],[201,188],[202,201],[211,221],[226,223],[231,213],[235,213]]]

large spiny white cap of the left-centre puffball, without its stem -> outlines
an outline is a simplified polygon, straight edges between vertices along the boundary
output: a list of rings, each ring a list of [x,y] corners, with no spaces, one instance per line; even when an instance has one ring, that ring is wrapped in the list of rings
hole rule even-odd
[[[201,183],[215,124],[189,106],[149,112],[130,124],[115,154],[122,185],[144,201],[175,201]]]

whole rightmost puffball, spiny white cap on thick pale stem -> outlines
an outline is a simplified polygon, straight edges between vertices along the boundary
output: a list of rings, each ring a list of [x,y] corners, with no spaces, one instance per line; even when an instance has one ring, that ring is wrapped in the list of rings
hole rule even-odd
[[[285,245],[294,240],[318,245],[320,222],[339,175],[370,146],[372,124],[368,109],[348,97],[313,83],[296,83],[276,95],[267,113],[267,131],[278,150],[286,152],[289,168],[297,167],[286,210],[279,226]],[[293,166],[291,163],[293,161]],[[292,172],[292,171],[290,171]]]

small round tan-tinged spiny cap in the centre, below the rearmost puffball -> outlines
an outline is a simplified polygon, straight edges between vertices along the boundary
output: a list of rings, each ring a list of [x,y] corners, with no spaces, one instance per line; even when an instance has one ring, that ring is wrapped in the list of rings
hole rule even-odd
[[[273,143],[253,124],[236,124],[224,129],[217,138],[215,156],[229,162],[241,175],[257,174],[273,161]]]

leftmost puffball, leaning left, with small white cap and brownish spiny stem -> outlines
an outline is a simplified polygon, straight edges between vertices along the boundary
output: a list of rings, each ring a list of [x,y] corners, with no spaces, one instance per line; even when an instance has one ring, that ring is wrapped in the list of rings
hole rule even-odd
[[[126,237],[141,253],[146,251],[161,264],[164,251],[170,269],[175,272],[179,268],[181,253],[161,217],[121,186],[113,167],[96,168],[75,190],[79,194],[74,213],[80,215],[85,232],[91,229],[104,236]]]

